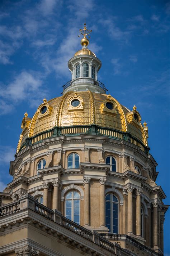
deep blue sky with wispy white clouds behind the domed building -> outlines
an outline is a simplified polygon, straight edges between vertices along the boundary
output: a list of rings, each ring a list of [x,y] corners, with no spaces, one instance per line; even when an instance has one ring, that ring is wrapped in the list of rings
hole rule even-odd
[[[60,96],[71,79],[68,60],[81,49],[79,29],[92,29],[89,49],[102,62],[98,79],[121,104],[133,105],[148,124],[157,184],[169,193],[170,2],[0,1],[0,190],[11,181],[9,162],[25,111],[32,117],[42,99]],[[170,255],[170,211],[165,255]]]

